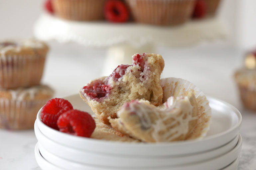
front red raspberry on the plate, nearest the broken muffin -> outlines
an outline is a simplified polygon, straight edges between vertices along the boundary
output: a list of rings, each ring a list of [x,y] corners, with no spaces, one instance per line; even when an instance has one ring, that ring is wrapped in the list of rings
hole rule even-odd
[[[89,138],[96,125],[90,114],[79,110],[69,110],[63,113],[58,121],[61,132]]]

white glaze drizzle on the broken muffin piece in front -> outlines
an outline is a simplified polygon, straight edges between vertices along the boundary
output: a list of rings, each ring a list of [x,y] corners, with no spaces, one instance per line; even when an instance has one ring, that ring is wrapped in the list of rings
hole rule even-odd
[[[118,112],[118,117],[124,113],[123,109],[125,107]],[[186,135],[189,132],[189,122],[198,119],[198,116],[192,116],[192,110],[193,106],[187,96],[177,97],[175,100],[173,96],[169,97],[165,109],[148,107],[143,103],[130,103],[129,105],[129,112],[136,113],[140,118],[141,127],[153,129],[151,135],[156,142],[168,142],[181,135]],[[154,122],[150,119],[150,112],[158,117],[157,120],[153,120]],[[160,114],[164,117],[161,117]],[[185,116],[186,118],[184,118]],[[167,120],[172,120],[172,123],[167,125],[165,123]],[[160,132],[165,133],[160,134]]]

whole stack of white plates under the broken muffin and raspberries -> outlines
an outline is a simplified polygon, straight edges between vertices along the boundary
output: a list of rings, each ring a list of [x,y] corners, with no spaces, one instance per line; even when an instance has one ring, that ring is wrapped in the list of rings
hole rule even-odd
[[[90,111],[78,94],[66,97],[76,109]],[[212,122],[202,140],[169,143],[110,142],[65,134],[35,122],[36,160],[43,170],[235,170],[242,117],[232,105],[208,97]]]

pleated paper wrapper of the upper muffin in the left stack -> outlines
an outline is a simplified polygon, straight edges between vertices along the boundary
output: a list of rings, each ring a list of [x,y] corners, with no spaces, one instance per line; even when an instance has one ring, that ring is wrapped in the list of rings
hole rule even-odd
[[[46,55],[0,57],[0,88],[39,85]]]

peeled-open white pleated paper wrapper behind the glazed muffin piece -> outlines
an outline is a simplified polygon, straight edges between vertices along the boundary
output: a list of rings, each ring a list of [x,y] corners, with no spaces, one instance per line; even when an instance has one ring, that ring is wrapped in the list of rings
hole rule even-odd
[[[191,82],[179,78],[161,79],[161,86],[163,87],[164,93],[163,102],[166,102],[171,96],[174,96],[174,98],[187,96],[188,92],[192,92],[195,95],[199,117],[197,126],[194,128],[192,136],[189,139],[200,139],[206,136],[210,125],[211,108],[204,93]]]

